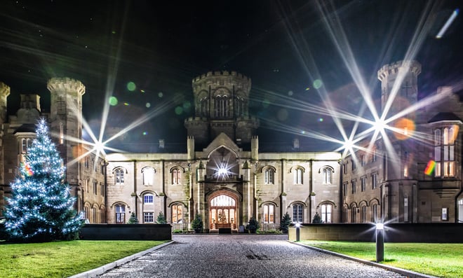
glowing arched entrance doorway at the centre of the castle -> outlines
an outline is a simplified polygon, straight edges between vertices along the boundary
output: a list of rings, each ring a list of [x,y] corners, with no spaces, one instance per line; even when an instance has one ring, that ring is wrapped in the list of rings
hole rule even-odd
[[[209,223],[210,230],[219,228],[231,228],[236,230],[237,222],[237,198],[227,190],[220,190],[209,198]]]

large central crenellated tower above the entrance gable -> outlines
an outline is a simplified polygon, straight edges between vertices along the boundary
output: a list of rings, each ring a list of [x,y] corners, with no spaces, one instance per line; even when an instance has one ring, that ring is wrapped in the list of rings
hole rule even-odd
[[[237,144],[250,143],[259,126],[249,116],[250,78],[236,71],[208,72],[193,79],[194,117],[184,121],[189,136],[203,145],[224,132]]]

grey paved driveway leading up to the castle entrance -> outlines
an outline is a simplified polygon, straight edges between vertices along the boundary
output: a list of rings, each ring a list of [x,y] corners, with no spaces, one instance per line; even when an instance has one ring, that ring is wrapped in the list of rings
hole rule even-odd
[[[173,244],[100,277],[404,277],[280,235],[175,235]]]

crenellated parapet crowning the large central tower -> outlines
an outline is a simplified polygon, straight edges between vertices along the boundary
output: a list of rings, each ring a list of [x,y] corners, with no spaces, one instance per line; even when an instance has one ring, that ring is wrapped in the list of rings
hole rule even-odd
[[[236,71],[209,71],[207,74],[193,78],[192,87],[195,97],[202,90],[208,91],[209,86],[213,88],[234,87],[235,90],[242,90],[248,96],[251,88],[251,80]]]

